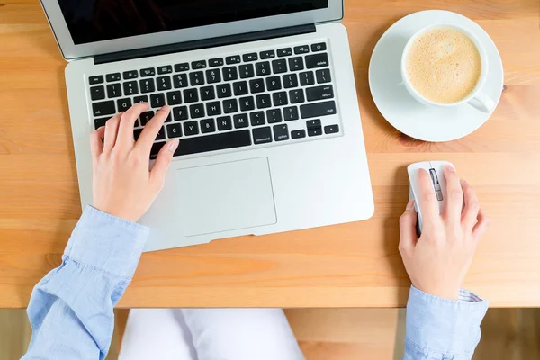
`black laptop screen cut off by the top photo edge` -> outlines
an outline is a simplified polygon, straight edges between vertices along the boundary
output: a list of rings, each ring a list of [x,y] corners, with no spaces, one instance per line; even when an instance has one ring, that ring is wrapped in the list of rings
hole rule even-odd
[[[325,9],[329,0],[59,0],[76,45]]]

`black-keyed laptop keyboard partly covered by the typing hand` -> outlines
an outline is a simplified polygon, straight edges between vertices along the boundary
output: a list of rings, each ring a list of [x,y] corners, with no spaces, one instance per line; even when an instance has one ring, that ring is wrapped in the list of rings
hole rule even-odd
[[[150,110],[135,123],[135,139],[157,109],[171,113],[151,158],[167,139],[175,156],[286,144],[339,132],[325,42],[224,58],[89,76],[95,129],[133,103]]]

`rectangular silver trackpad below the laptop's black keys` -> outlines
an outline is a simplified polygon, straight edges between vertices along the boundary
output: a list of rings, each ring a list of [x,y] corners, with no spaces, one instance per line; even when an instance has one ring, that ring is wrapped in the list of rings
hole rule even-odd
[[[177,170],[185,236],[275,224],[267,157]]]

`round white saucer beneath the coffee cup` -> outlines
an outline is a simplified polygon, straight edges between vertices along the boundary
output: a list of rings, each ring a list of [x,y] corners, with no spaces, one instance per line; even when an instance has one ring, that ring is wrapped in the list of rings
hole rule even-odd
[[[504,71],[499,51],[490,36],[472,20],[460,14],[428,10],[405,16],[375,46],[369,64],[369,87],[374,102],[386,121],[411,138],[424,141],[451,141],[470,134],[489,119],[468,104],[455,107],[426,106],[418,103],[401,85],[401,54],[410,37],[425,26],[455,23],[473,32],[488,56],[488,76],[482,92],[495,104],[500,101]]]

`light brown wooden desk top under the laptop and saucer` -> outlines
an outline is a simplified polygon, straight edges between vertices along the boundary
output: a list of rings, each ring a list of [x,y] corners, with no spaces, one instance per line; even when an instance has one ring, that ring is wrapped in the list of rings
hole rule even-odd
[[[376,41],[428,6],[469,16],[504,63],[497,111],[465,139],[430,144],[394,130],[367,84]],[[373,219],[145,254],[121,307],[393,307],[410,281],[398,252],[405,166],[452,161],[491,229],[466,286],[494,306],[540,306],[540,10],[537,0],[346,1],[374,184]],[[66,63],[37,0],[0,0],[0,307],[24,307],[61,262],[80,215],[64,84]]]

